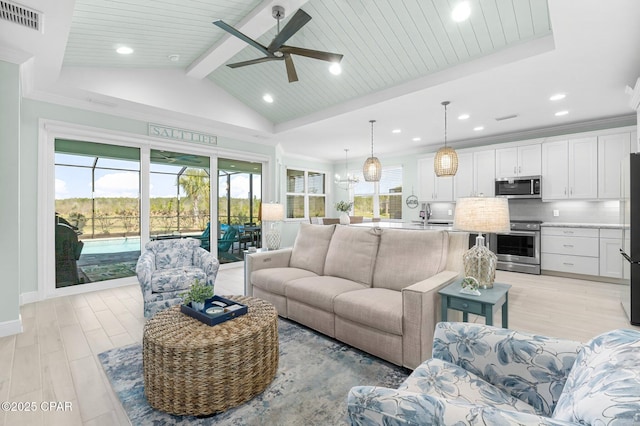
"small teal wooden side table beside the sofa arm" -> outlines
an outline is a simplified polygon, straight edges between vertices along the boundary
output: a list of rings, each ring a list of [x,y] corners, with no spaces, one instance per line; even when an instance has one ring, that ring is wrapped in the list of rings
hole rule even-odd
[[[510,284],[494,283],[493,288],[480,289],[480,296],[460,293],[462,280],[449,284],[438,291],[442,299],[442,321],[447,321],[447,311],[462,311],[462,320],[469,321],[469,314],[485,317],[487,325],[493,325],[493,311],[502,306],[502,328],[509,328],[509,289]]]

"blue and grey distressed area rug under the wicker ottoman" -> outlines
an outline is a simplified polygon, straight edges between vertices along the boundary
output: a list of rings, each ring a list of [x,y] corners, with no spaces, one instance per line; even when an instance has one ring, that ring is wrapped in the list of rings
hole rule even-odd
[[[280,362],[274,381],[249,402],[210,417],[174,416],[144,396],[141,345],[98,357],[134,426],[341,425],[352,386],[396,388],[410,370],[387,363],[291,321],[279,319]]]

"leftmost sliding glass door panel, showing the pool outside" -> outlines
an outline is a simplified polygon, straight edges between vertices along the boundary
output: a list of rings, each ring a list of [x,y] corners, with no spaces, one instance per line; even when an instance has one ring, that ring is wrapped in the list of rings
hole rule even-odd
[[[55,141],[56,288],[135,275],[140,150]]]

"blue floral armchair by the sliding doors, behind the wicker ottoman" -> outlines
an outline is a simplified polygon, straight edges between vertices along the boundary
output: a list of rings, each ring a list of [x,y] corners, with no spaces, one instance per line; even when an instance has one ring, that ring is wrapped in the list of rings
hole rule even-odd
[[[138,258],[136,274],[144,316],[182,302],[180,294],[198,279],[213,287],[220,263],[193,238],[150,241]]]

